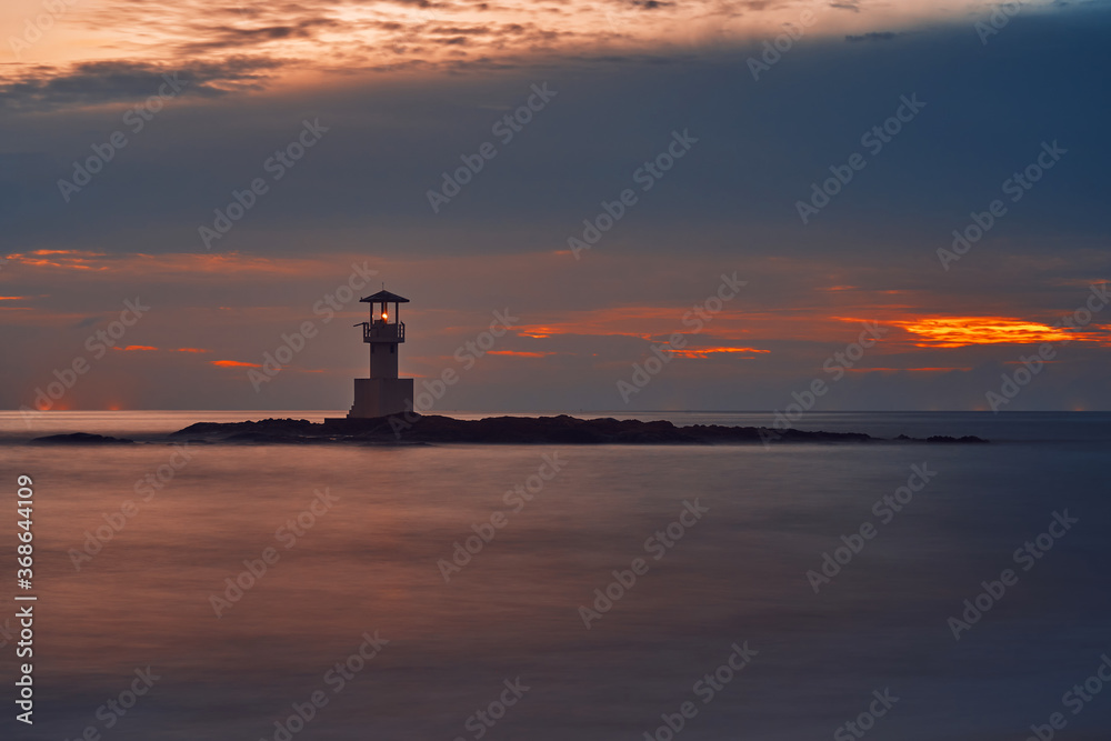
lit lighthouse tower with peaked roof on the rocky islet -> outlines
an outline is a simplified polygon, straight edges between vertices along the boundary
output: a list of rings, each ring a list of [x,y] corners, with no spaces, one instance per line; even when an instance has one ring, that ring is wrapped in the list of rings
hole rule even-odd
[[[356,324],[362,327],[362,341],[370,346],[370,378],[354,380],[354,404],[348,419],[400,414],[413,398],[413,380],[398,378],[398,346],[406,341],[398,308],[409,299],[383,289],[359,301],[370,304],[370,321]]]

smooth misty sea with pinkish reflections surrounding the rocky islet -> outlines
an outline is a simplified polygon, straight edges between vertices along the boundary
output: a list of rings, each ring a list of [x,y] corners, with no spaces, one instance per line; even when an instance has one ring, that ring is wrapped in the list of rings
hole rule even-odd
[[[336,415],[0,412],[0,738],[1111,739],[1109,413],[792,424],[987,444],[166,439]],[[138,444],[26,444],[64,432]]]

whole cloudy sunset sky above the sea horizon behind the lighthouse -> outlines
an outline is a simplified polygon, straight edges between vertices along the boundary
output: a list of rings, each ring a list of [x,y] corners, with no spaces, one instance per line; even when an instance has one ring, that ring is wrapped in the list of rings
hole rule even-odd
[[[1107,2],[0,30],[0,408],[347,409],[384,284],[426,411],[1111,409]]]

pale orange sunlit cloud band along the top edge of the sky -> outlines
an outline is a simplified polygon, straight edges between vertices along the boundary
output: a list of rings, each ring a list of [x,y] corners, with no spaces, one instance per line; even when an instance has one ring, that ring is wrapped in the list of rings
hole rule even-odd
[[[534,54],[590,50],[713,50],[735,40],[764,39],[783,26],[815,20],[807,33],[833,38],[900,30],[949,17],[962,21],[987,16],[988,0],[971,0],[959,10],[927,0],[864,4],[790,3],[717,0],[689,2],[589,2],[532,0],[486,2],[347,2],[313,0],[281,3],[244,0],[216,7],[204,2],[97,0],[67,3],[64,23],[53,23],[36,46],[36,58],[16,62],[30,74],[43,63],[108,62],[126,53],[131,62],[174,63],[192,60],[217,67],[229,56],[256,60],[262,71],[248,80],[232,70],[207,81],[208,89],[234,90],[256,83],[262,72],[286,62],[292,70],[352,68],[378,71],[429,69],[482,61],[506,66]],[[8,11],[7,6],[12,6]],[[743,9],[734,6],[743,6]],[[9,0],[8,24],[16,28],[41,12],[37,0]],[[121,52],[123,49],[126,52]],[[279,61],[280,60],[280,61]],[[343,64],[334,63],[342,60]],[[240,61],[240,64],[243,62]],[[231,67],[224,64],[224,67]],[[212,74],[213,72],[209,72]],[[18,76],[17,76],[18,77]]]

